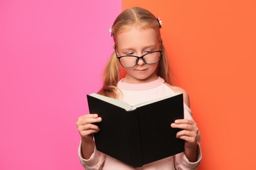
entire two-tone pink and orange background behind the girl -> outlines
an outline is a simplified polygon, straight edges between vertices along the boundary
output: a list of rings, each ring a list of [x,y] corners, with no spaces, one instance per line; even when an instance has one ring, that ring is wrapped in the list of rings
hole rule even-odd
[[[254,0],[1,0],[0,169],[83,169],[75,122],[101,86],[108,28],[133,6],[163,21],[202,134],[198,169],[256,169]]]

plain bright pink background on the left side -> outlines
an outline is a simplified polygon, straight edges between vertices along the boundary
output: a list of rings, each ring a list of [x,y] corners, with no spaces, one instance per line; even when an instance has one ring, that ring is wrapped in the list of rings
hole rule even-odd
[[[0,169],[83,169],[75,122],[100,88],[121,1],[0,1]],[[100,68],[100,69],[99,69]]]

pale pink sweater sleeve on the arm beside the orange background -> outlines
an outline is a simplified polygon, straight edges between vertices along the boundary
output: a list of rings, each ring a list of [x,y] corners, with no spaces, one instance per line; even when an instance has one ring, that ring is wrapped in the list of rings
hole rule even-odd
[[[189,119],[189,120],[193,120],[192,118],[192,112],[190,110],[190,108],[184,104],[184,118],[185,119]],[[174,157],[174,161],[175,161],[175,168],[177,170],[191,170],[191,169],[196,169],[199,164],[200,161],[202,160],[202,150],[201,150],[201,146],[200,146],[200,132],[198,132],[198,160],[195,162],[190,162],[188,160],[188,158],[186,158],[186,155],[184,154],[184,152],[180,153],[180,154],[176,154]]]

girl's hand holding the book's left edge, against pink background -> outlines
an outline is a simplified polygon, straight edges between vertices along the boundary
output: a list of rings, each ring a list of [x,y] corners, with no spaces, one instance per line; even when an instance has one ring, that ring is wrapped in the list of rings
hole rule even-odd
[[[93,123],[101,122],[102,118],[98,114],[85,114],[77,120],[77,129],[81,135],[82,141],[91,142],[93,133],[97,133],[100,129]]]

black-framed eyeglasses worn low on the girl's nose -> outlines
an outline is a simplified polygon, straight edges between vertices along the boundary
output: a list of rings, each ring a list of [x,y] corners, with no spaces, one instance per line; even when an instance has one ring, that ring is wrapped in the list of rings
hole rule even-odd
[[[163,44],[161,43],[161,50],[148,52],[140,57],[133,56],[133,55],[118,56],[116,52],[116,46],[115,46],[116,57],[119,59],[119,63],[121,64],[121,66],[125,68],[135,67],[138,64],[140,58],[146,64],[158,63],[158,61],[160,61],[162,51],[163,51]]]

